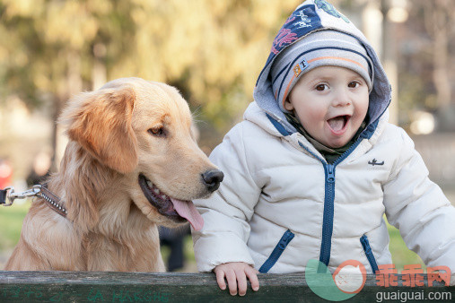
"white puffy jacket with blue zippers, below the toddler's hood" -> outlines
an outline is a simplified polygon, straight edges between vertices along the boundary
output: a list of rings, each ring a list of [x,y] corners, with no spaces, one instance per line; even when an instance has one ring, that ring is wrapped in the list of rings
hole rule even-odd
[[[455,209],[387,116],[332,166],[302,134],[280,134],[251,103],[210,156],[224,172],[222,186],[195,201],[205,221],[193,232],[197,269],[245,262],[263,273],[296,273],[320,257],[332,272],[354,259],[372,273],[392,263],[385,212],[425,264],[455,272]]]

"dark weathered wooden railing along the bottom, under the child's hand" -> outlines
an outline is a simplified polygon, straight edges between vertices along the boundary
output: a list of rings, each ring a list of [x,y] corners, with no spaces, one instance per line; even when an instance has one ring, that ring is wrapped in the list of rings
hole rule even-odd
[[[303,273],[259,274],[260,289],[245,297],[220,290],[210,273],[1,272],[0,302],[321,302]],[[453,276],[452,276],[453,279]],[[326,281],[327,282],[327,281]],[[377,285],[368,275],[354,302],[454,302],[455,286]],[[320,287],[326,287],[321,281]],[[424,281],[427,284],[426,277]],[[405,300],[406,299],[406,300]]]

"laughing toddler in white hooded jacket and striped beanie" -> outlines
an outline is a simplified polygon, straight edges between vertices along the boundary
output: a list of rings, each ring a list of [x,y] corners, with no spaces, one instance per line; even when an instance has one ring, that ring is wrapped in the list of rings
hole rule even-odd
[[[244,295],[257,273],[391,264],[388,221],[428,266],[455,272],[455,208],[414,143],[388,122],[390,87],[353,23],[322,0],[297,7],[273,43],[244,121],[210,159],[220,189],[198,200],[197,268]],[[226,280],[226,281],[225,281]]]

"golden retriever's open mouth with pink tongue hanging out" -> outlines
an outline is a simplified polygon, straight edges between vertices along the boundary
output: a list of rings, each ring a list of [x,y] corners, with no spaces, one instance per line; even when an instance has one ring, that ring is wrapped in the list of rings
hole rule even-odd
[[[179,200],[165,195],[143,174],[139,175],[139,186],[141,186],[148,202],[151,203],[163,216],[177,222],[188,220],[193,229],[202,229],[204,220],[199,212],[197,212],[195,204],[191,201]]]

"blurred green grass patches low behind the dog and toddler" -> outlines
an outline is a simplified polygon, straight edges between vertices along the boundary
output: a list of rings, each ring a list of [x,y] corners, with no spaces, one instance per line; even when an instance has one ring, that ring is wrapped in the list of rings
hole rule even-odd
[[[17,244],[22,229],[22,221],[30,207],[30,203],[14,203],[13,206],[0,206],[0,254],[11,251]],[[424,264],[420,257],[407,249],[398,229],[388,224],[393,264],[396,265],[398,273],[405,264]],[[188,264],[195,263],[193,243],[190,236],[185,238],[185,260]],[[162,255],[166,260],[169,255],[169,248],[162,247]],[[423,266],[424,267],[424,266]],[[192,267],[194,268],[194,266]]]

